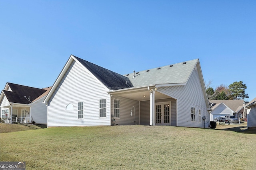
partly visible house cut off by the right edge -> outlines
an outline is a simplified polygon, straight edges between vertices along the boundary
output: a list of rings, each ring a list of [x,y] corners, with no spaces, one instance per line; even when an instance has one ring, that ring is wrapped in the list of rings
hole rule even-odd
[[[248,129],[256,128],[256,98],[251,100],[245,107],[247,108]]]

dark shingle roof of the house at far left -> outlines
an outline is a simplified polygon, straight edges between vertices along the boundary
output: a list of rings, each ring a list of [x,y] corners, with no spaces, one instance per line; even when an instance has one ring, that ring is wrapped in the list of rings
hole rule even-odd
[[[13,83],[7,84],[12,91],[2,90],[2,92],[6,96],[7,100],[11,103],[30,104],[31,101],[35,100],[46,92],[46,90],[40,88],[28,87]]]

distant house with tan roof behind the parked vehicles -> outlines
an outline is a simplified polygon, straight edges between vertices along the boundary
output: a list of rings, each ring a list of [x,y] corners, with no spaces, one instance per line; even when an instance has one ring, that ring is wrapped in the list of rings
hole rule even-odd
[[[212,111],[210,112],[210,121],[216,117],[225,115],[234,115],[238,118],[245,118],[246,102],[244,100],[209,100]]]

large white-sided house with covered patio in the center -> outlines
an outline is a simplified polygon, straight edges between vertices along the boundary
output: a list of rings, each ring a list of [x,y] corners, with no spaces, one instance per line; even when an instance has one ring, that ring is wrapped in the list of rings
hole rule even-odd
[[[48,127],[209,123],[198,59],[120,75],[71,55],[44,103]]]

